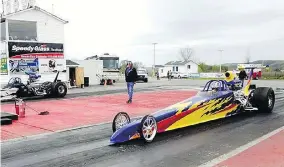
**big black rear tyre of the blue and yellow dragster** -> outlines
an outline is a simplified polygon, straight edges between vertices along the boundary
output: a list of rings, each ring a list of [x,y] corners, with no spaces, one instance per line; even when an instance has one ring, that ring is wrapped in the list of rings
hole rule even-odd
[[[258,87],[253,92],[252,105],[260,112],[271,113],[275,104],[275,93],[272,88]]]

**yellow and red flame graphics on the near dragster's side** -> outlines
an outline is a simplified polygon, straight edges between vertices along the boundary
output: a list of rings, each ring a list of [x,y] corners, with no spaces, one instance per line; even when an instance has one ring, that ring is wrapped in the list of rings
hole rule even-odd
[[[233,96],[201,101],[183,112],[177,112],[176,115],[160,121],[158,123],[159,132],[224,118],[237,107],[238,105],[233,103]]]

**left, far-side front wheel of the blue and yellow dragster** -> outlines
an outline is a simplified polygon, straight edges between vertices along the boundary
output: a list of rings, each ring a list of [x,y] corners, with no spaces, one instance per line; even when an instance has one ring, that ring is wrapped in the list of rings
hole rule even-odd
[[[116,132],[121,129],[123,126],[130,123],[130,117],[126,112],[119,112],[116,114],[112,121],[112,131]]]

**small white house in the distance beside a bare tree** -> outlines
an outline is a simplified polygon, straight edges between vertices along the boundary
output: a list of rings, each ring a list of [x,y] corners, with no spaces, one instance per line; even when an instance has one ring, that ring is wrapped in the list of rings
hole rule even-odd
[[[198,64],[193,61],[170,61],[159,68],[160,77],[167,76],[168,71],[180,72],[183,74],[198,73]]]

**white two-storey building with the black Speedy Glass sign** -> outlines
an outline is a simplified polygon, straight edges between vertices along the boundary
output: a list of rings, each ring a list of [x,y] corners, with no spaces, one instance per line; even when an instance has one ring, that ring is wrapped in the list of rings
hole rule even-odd
[[[37,6],[6,12],[1,18],[1,84],[11,77],[28,78],[27,71],[43,80],[65,70],[64,25],[67,21]],[[67,80],[66,73],[59,79]]]

